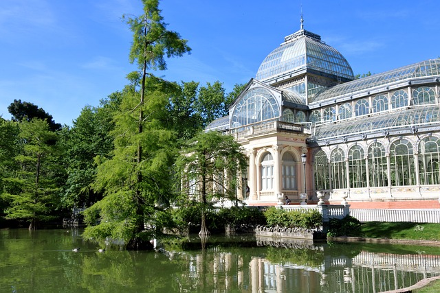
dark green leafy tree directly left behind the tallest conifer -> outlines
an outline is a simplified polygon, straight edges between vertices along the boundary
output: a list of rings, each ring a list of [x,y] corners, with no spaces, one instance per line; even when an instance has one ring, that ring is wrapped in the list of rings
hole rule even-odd
[[[62,201],[67,208],[89,206],[102,199],[91,188],[96,176],[94,158],[109,158],[113,150],[113,115],[119,110],[123,93],[116,92],[100,102],[100,106],[86,106],[74,120],[72,128],[61,132],[66,155],[64,165],[67,180],[63,185]]]

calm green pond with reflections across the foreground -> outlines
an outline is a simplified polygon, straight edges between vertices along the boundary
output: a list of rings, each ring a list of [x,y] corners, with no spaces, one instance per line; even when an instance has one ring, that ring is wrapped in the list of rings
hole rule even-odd
[[[440,249],[197,236],[129,252],[80,230],[0,231],[0,292],[384,292],[440,275]],[[78,253],[72,248],[79,247]]]

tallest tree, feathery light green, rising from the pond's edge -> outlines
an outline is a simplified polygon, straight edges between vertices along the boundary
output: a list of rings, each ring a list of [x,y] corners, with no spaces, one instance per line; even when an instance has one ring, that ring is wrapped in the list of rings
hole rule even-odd
[[[165,56],[182,56],[190,51],[186,40],[177,32],[166,30],[159,1],[143,0],[143,3],[141,16],[124,16],[133,32],[129,60],[136,62],[141,72],[128,76],[133,86],[122,102],[124,111],[115,117],[114,156],[98,166],[95,187],[104,189],[105,197],[87,215],[90,220],[91,214],[100,213],[101,224],[85,232],[101,238],[110,235],[126,239],[129,250],[151,248],[148,242],[151,234],[143,233],[145,218],[155,218],[156,212],[159,213],[156,204],[170,192],[166,188],[173,134],[163,126],[166,109],[163,102],[167,102],[164,93],[169,84],[147,71],[164,70]]]

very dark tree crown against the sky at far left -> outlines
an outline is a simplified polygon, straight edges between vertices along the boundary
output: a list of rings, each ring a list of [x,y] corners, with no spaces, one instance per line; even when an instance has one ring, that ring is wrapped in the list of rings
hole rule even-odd
[[[31,121],[34,118],[39,118],[47,121],[50,130],[56,131],[61,129],[61,124],[55,123],[52,115],[49,115],[45,110],[32,103],[21,102],[21,99],[14,99],[14,102],[8,106],[8,111],[12,115],[13,121]]]

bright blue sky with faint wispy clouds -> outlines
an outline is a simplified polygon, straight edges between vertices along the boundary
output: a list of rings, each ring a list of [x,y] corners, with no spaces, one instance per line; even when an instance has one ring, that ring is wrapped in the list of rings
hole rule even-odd
[[[155,74],[172,81],[234,84],[253,78],[270,51],[300,27],[347,58],[355,74],[380,73],[440,56],[440,1],[162,0],[169,30],[192,53]],[[122,14],[140,0],[1,0],[0,115],[14,99],[72,125],[86,105],[121,90],[131,32]]]

